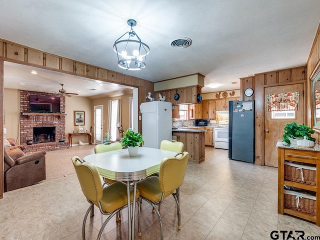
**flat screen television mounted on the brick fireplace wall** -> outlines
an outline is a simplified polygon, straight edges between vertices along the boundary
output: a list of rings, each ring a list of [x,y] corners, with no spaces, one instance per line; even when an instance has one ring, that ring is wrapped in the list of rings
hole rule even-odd
[[[60,97],[30,95],[30,112],[59,112]]]

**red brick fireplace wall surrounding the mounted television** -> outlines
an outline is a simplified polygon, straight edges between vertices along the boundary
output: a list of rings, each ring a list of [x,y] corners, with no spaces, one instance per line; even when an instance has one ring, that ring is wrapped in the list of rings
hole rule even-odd
[[[65,116],[56,113],[29,113],[29,95],[50,95],[60,97],[60,111],[65,111],[65,96],[46,93],[20,90],[20,145],[25,146],[25,152],[36,150],[57,150],[69,147],[67,141],[59,142],[65,138]],[[35,132],[34,132],[34,128]],[[44,131],[37,132],[38,128]],[[50,132],[48,130],[50,129]],[[31,145],[27,145],[27,140],[32,140]]]

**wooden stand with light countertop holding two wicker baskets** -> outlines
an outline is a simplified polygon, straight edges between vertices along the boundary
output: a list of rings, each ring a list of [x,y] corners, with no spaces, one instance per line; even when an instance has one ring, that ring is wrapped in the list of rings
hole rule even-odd
[[[320,226],[320,148],[284,145],[278,149],[278,213]]]

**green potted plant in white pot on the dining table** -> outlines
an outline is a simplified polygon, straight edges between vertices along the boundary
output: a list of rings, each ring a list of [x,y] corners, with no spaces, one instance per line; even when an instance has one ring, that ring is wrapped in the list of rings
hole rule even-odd
[[[124,137],[121,139],[122,147],[127,146],[129,155],[136,156],[138,154],[139,145],[144,144],[142,134],[137,131],[133,131],[131,128],[127,129],[123,134]]]

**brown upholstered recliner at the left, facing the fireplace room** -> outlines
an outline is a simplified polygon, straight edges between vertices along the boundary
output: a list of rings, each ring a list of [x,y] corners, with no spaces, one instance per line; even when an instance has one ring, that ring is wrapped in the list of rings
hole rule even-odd
[[[45,154],[35,151],[24,153],[24,146],[5,147],[4,155],[4,191],[32,185],[45,179]]]

